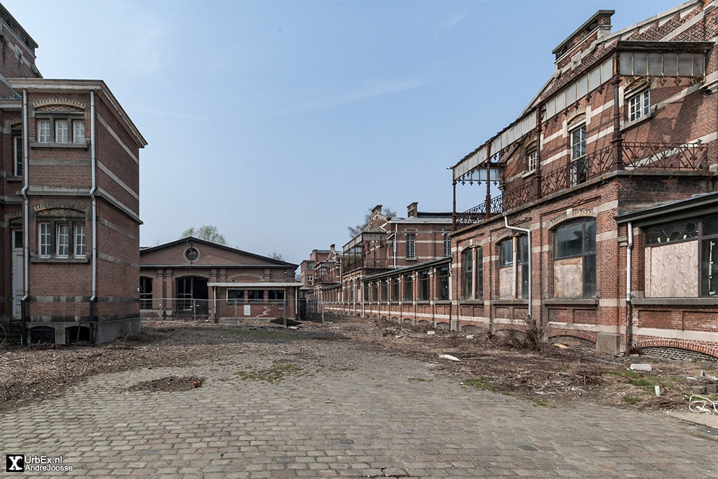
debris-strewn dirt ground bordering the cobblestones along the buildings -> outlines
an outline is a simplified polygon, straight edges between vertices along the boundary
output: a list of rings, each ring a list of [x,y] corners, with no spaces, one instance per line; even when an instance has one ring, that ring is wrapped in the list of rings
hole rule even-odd
[[[145,321],[141,335],[103,345],[0,345],[0,413],[63,393],[98,373],[154,366],[190,366],[218,354],[241,351],[244,343],[289,340],[353,341],[437,364],[435,370],[466,387],[521,397],[539,406],[586,401],[638,409],[688,410],[695,386],[710,386],[718,363],[669,361],[645,356],[614,357],[593,348],[544,345],[521,347],[517,338],[495,338],[407,327],[394,322],[342,318],[302,322],[284,329],[272,322],[215,325]],[[650,364],[651,371],[631,365]],[[635,367],[635,366],[634,366]],[[202,378],[177,376],[135,388],[174,391],[199,387]],[[660,386],[660,396],[656,387]],[[718,394],[701,394],[718,402]]]

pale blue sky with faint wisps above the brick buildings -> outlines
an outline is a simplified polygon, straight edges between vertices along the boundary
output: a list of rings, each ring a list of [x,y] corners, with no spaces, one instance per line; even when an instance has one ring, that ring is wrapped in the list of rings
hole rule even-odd
[[[451,211],[447,169],[515,120],[599,9],[664,0],[1,0],[45,78],[105,80],[149,145],[142,246],[215,225],[299,263],[374,205]],[[481,203],[460,188],[457,210]]]

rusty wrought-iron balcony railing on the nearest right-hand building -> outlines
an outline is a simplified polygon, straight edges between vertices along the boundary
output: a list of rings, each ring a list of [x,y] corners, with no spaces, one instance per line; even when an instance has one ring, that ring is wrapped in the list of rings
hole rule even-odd
[[[612,169],[707,171],[708,145],[624,142],[620,162],[615,160],[614,147],[598,149],[567,165],[544,172],[541,177],[531,177],[531,180],[523,185],[505,190],[503,195],[491,198],[489,203],[485,202],[463,213],[457,213],[454,227],[462,228],[473,223],[480,223],[486,218],[540,197],[568,190]]]

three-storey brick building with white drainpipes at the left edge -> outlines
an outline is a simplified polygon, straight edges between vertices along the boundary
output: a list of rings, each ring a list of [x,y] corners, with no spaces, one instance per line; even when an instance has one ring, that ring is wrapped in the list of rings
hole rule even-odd
[[[2,321],[26,343],[138,332],[146,141],[103,81],[42,78],[1,5],[0,27]]]

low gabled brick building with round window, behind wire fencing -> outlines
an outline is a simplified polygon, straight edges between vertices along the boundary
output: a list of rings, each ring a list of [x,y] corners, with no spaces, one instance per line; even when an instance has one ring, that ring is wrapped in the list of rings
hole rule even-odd
[[[143,317],[237,321],[299,317],[297,264],[198,238],[142,248]]]

